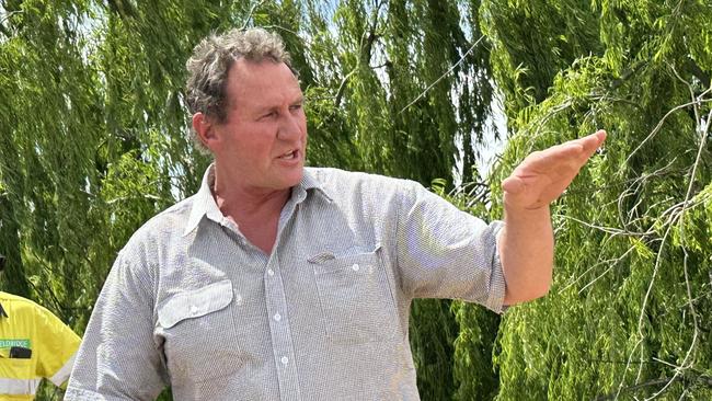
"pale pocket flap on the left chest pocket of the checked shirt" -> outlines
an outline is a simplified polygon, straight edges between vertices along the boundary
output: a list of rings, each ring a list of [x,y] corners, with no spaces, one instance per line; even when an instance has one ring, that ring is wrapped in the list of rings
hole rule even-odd
[[[185,319],[199,318],[218,311],[232,301],[232,282],[209,284],[198,289],[175,294],[158,311],[158,322],[164,329]]]

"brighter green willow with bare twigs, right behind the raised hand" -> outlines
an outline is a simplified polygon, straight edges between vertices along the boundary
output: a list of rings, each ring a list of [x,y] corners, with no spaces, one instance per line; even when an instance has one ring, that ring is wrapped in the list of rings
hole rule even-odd
[[[494,180],[609,131],[552,207],[551,294],[503,319],[496,398],[710,399],[712,5],[491,0],[482,15],[515,133]]]

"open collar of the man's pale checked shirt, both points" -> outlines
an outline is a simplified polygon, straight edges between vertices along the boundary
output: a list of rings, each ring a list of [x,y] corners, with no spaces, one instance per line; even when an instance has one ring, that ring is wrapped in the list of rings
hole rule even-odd
[[[195,230],[200,220],[203,220],[204,216],[207,216],[210,220],[214,221],[221,221],[223,218],[222,213],[218,208],[218,205],[215,203],[215,198],[213,197],[214,184],[215,164],[210,164],[205,171],[205,174],[203,174],[200,188],[195,194],[195,198],[193,199],[191,215],[188,216],[187,224],[185,225],[185,230],[183,231],[184,237]],[[301,175],[301,181],[291,191],[291,196],[295,196],[297,202],[301,202],[307,198],[307,192],[309,190],[319,191],[328,202],[332,202],[332,197],[329,196],[326,191],[323,188],[323,185],[314,177],[309,169],[305,169]]]

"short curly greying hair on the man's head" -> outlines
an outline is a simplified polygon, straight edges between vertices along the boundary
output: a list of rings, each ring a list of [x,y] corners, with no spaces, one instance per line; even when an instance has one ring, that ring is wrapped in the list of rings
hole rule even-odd
[[[188,71],[186,94],[191,114],[203,113],[218,124],[225,123],[229,106],[228,72],[240,58],[255,62],[265,59],[284,62],[297,76],[297,71],[291,67],[289,53],[285,50],[285,45],[277,34],[260,27],[213,34],[193,48],[193,55],[185,62]],[[197,148],[208,152],[197,133],[194,129],[190,131]]]

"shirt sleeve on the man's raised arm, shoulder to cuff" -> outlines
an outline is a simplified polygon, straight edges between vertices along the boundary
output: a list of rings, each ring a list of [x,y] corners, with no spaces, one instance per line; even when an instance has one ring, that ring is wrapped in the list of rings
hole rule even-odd
[[[502,313],[502,221],[485,224],[417,183],[402,194],[398,221],[401,285],[413,298],[455,298]]]

